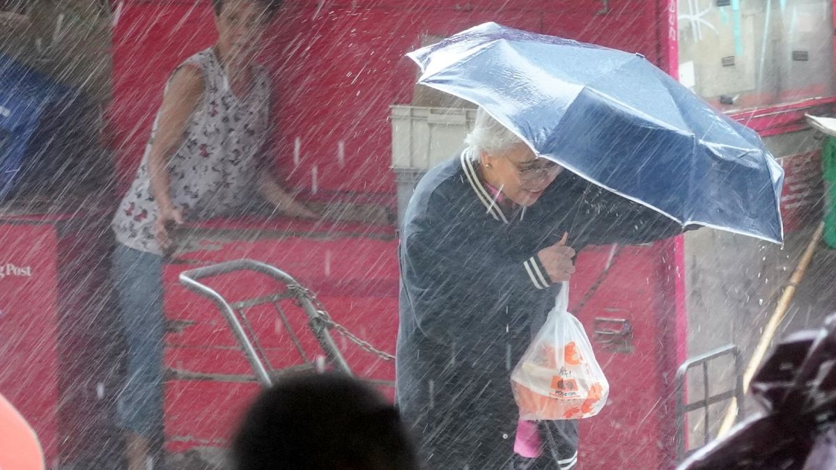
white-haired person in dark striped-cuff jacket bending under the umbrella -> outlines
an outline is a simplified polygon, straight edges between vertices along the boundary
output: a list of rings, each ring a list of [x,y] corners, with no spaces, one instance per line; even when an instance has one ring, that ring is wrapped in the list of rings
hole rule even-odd
[[[466,143],[421,179],[405,214],[398,404],[434,470],[565,470],[578,462],[577,422],[518,423],[512,368],[575,250],[681,227],[539,158],[485,110]],[[514,453],[518,425],[534,437],[525,457]]]

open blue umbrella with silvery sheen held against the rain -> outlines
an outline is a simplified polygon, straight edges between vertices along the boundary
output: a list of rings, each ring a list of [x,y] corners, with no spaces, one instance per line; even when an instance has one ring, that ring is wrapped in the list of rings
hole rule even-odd
[[[782,243],[783,171],[757,133],[640,54],[484,23],[408,54],[538,156],[680,222]]]

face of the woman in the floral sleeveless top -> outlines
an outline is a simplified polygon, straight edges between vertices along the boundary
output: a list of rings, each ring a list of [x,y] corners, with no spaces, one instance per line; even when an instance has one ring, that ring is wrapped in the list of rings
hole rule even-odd
[[[248,64],[260,52],[270,18],[263,3],[254,0],[224,0],[215,17],[218,43],[228,59]]]

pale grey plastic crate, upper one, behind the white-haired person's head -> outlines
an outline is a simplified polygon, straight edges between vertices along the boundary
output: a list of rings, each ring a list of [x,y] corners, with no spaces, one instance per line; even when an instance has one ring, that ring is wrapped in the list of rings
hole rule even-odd
[[[465,147],[476,110],[391,106],[392,167],[429,170]]]

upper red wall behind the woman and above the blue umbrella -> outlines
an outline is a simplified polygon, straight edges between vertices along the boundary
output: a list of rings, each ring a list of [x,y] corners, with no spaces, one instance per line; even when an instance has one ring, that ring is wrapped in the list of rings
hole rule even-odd
[[[613,2],[609,13],[597,14],[603,6],[597,0],[290,3],[269,34],[267,58],[278,97],[274,153],[282,175],[292,186],[311,189],[316,167],[319,190],[394,192],[389,106],[410,103],[417,69],[404,54],[425,34],[450,35],[496,21],[635,50],[659,63],[655,3]],[[122,189],[142,155],[167,75],[214,38],[208,0],[198,6],[125,2],[114,32],[110,110]]]

